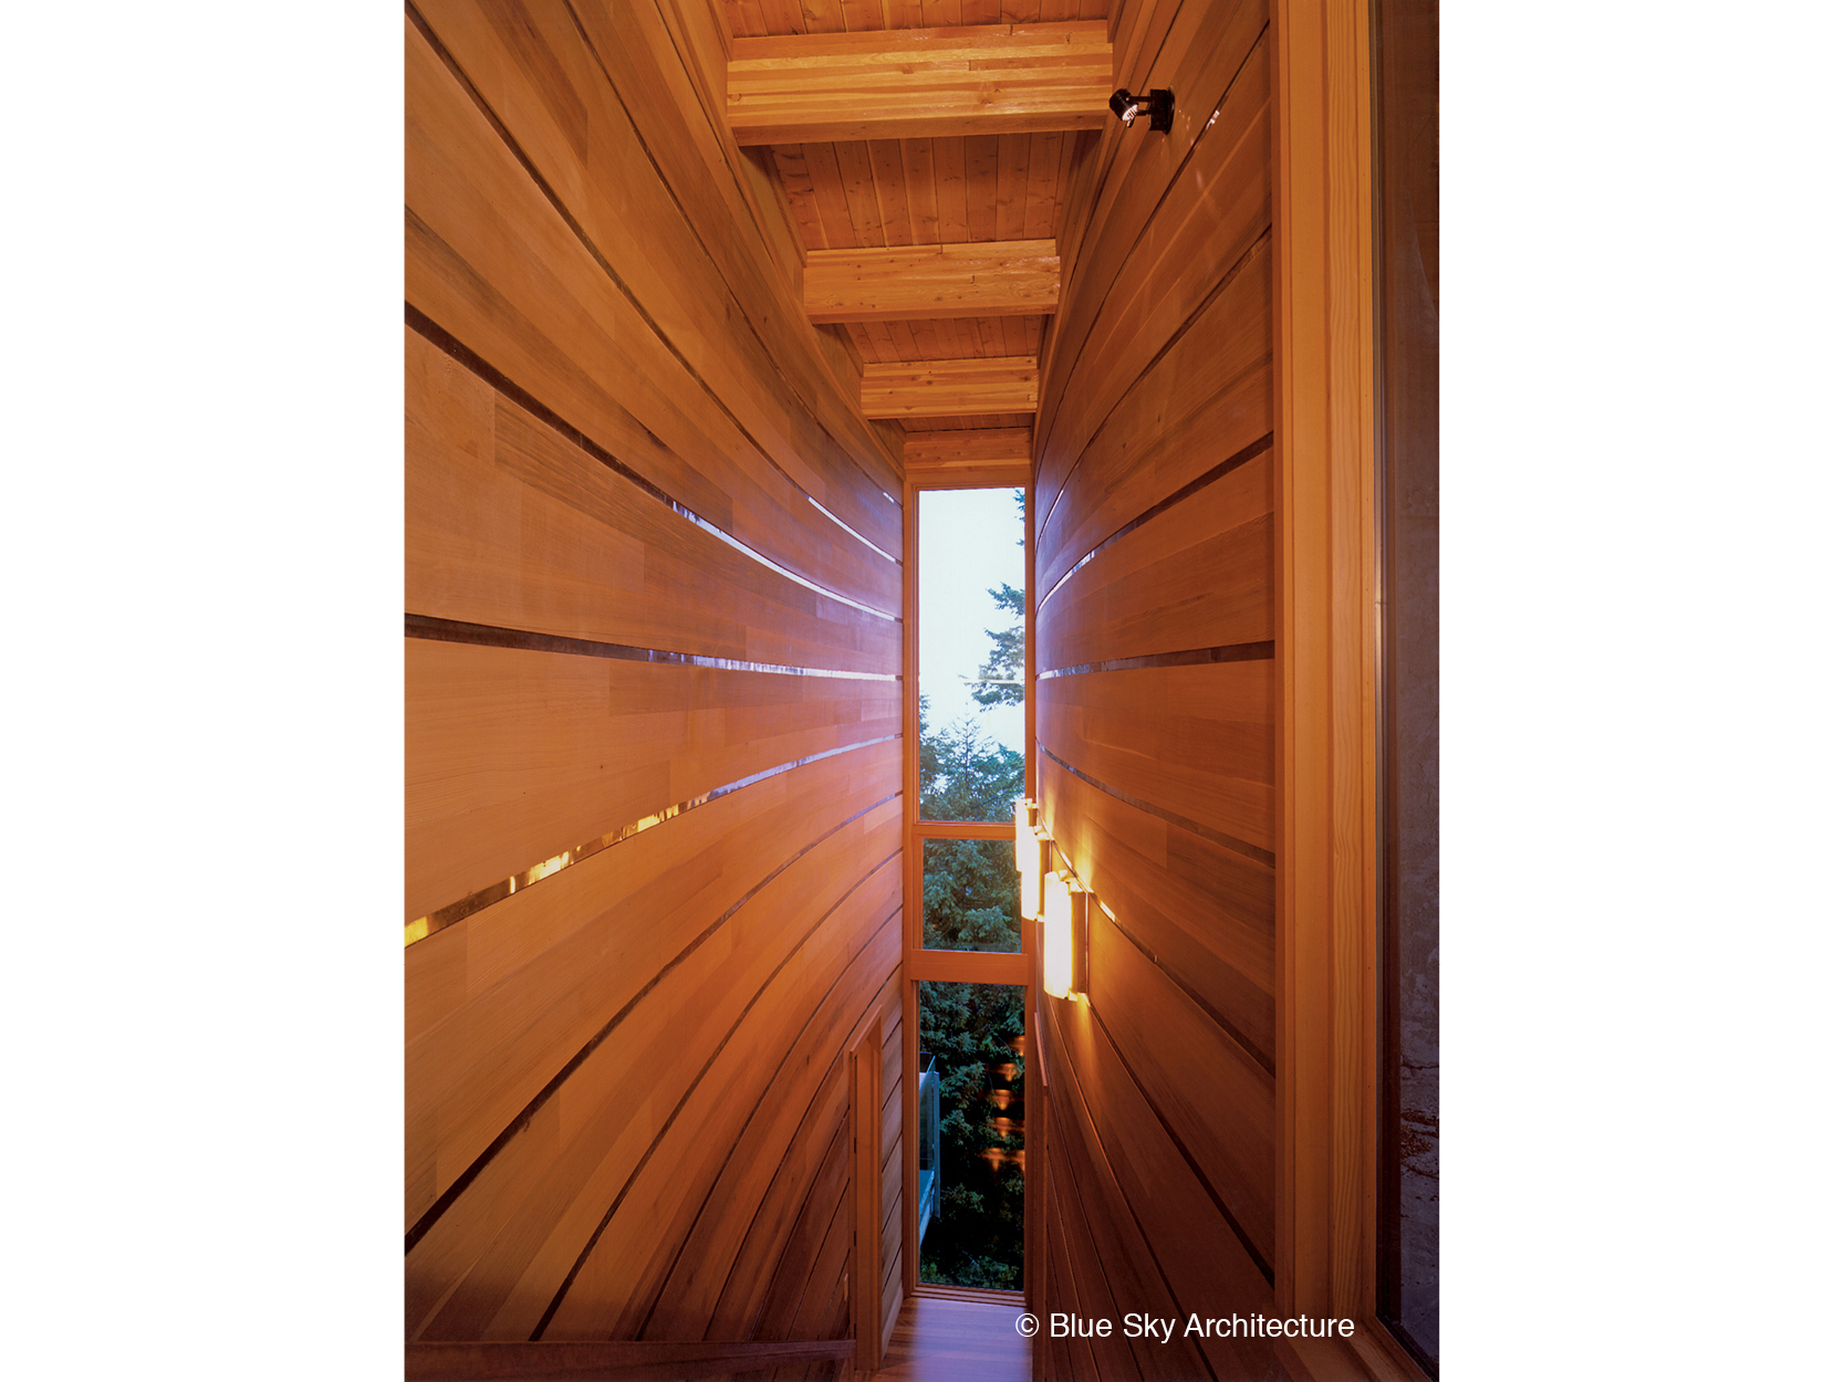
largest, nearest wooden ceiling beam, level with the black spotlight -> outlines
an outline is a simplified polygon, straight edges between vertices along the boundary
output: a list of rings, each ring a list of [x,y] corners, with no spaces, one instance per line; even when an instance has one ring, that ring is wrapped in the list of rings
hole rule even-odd
[[[1101,129],[1114,90],[1106,20],[736,39],[738,144]]]

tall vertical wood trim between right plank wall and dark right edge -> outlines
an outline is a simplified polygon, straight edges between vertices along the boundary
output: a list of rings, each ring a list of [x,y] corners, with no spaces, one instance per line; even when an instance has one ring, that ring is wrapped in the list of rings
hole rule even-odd
[[[1374,1277],[1374,374],[1363,6],[1274,9],[1280,1314]]]

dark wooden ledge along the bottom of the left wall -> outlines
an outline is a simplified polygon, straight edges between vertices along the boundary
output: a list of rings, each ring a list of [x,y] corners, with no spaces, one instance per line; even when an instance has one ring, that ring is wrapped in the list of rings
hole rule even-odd
[[[408,1343],[406,1382],[677,1382],[852,1356],[852,1340],[810,1343]]]

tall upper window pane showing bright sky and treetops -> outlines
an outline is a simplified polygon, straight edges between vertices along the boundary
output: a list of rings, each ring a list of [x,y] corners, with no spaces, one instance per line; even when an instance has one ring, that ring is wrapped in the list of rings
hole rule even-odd
[[[916,496],[922,820],[1011,820],[1023,796],[1023,490]]]

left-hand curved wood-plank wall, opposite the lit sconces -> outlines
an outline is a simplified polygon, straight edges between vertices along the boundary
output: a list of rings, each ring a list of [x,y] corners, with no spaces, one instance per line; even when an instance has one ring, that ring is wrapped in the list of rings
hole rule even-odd
[[[902,488],[725,44],[704,0],[406,17],[411,1340],[850,1329]]]

